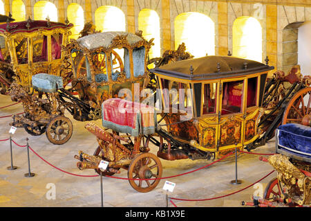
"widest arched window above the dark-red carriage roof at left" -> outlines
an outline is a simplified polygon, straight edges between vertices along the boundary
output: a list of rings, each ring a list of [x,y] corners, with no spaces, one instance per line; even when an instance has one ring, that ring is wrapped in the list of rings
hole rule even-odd
[[[55,4],[50,1],[38,1],[33,7],[33,14],[35,20],[46,20],[47,17],[50,21],[57,21],[57,8]]]

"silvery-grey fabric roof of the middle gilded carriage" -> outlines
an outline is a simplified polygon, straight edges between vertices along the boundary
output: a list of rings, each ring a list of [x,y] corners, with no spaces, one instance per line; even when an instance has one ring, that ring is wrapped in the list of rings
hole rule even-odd
[[[119,41],[116,41],[117,37],[120,37]],[[95,33],[77,39],[77,44],[87,48],[89,51],[94,51],[98,48],[117,47],[120,44],[129,44],[129,46],[135,47],[144,44],[144,42],[146,41],[142,37],[123,31]]]

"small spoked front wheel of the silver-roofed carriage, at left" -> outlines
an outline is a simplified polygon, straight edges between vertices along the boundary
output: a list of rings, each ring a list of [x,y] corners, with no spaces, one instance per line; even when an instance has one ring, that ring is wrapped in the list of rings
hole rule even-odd
[[[66,116],[57,116],[48,123],[46,137],[51,143],[62,145],[73,135],[73,123]]]

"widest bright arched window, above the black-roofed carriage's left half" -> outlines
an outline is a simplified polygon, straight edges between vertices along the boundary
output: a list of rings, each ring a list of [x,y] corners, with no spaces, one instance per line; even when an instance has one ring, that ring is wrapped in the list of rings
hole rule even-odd
[[[187,51],[200,58],[215,55],[215,24],[207,15],[186,12],[174,21],[175,48],[185,42]]]

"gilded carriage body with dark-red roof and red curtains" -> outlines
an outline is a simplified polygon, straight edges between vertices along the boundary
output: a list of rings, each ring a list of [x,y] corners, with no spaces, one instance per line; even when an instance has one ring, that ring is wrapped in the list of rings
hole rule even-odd
[[[73,24],[53,21],[7,22],[0,24],[0,80],[10,87],[13,76],[20,85],[32,87],[32,76],[49,73],[71,78],[71,65],[62,50],[68,44]]]

